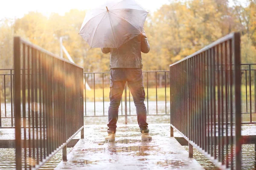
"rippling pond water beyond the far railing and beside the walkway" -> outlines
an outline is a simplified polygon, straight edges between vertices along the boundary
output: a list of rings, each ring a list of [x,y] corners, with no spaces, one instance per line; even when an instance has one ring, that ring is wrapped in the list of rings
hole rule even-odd
[[[170,111],[170,105],[169,102],[165,103],[165,101],[158,101],[157,102],[157,111],[156,111],[156,102],[155,101],[149,101],[148,105],[147,102],[145,102],[146,108],[149,110],[149,114],[165,114],[166,112],[169,113]],[[166,107],[167,105],[167,107]],[[104,112],[105,115],[108,115],[108,106],[109,102],[104,103]],[[131,102],[131,107],[128,102],[128,114],[136,114],[136,108],[134,106],[134,103]],[[94,110],[94,103],[93,102],[87,102],[86,104],[86,114],[87,116],[93,116],[96,115],[103,115],[103,102],[96,102],[95,103],[95,110]],[[130,112],[131,110],[131,112]],[[119,108],[119,115],[122,115],[125,113],[125,103],[122,102],[122,107],[120,105]],[[6,103],[6,116],[11,116],[11,104]],[[5,116],[5,106],[2,103],[1,104],[1,116]],[[85,118],[85,124],[106,124],[108,121],[108,117],[95,117],[95,118]],[[137,117],[136,116],[128,116],[128,124],[136,123]],[[148,123],[169,123],[169,116],[148,116]],[[124,117],[120,116],[118,124],[124,124]],[[3,126],[10,126],[11,125],[11,119],[2,119],[2,125]],[[244,129],[248,129],[242,133],[242,135],[250,135],[251,132],[256,132],[255,125],[245,125]],[[68,152],[72,148],[68,148]],[[185,149],[188,150],[188,147],[185,146]],[[244,144],[242,146],[242,164],[243,169],[254,169],[255,167],[255,151],[254,151],[254,144]],[[3,159],[4,158],[4,159]],[[194,158],[207,170],[218,170],[217,167],[215,167],[214,164],[212,164],[205,156],[203,156],[201,153],[199,153],[196,149],[194,149]],[[55,156],[52,157],[41,169],[45,170],[53,170],[58,163],[62,159],[62,152],[58,152]],[[11,170],[15,169],[15,149],[8,148],[3,149],[0,148],[0,170]]]

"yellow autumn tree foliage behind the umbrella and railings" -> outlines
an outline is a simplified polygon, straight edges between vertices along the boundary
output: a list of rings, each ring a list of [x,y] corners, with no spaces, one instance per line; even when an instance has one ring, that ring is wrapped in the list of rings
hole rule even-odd
[[[144,28],[151,50],[142,54],[144,70],[168,70],[170,64],[233,31],[243,35],[242,61],[256,62],[256,3],[247,1],[244,7],[238,1],[229,6],[228,0],[180,0],[148,14]],[[49,17],[29,12],[15,21],[0,21],[0,68],[12,67],[12,37],[19,35],[57,55],[63,37],[63,45],[84,71],[109,71],[109,54],[90,49],[78,34],[85,14],[76,9]]]

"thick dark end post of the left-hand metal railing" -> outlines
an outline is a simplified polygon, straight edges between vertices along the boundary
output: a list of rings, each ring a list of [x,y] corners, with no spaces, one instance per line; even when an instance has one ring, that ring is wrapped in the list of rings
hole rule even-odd
[[[15,79],[15,153],[16,170],[22,169],[21,159],[21,109],[20,109],[20,37],[14,37],[14,71]]]

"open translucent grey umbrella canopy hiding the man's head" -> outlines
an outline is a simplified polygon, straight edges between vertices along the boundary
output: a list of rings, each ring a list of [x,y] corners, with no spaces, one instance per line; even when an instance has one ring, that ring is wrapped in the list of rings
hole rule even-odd
[[[118,48],[143,31],[148,12],[134,0],[116,0],[89,11],[79,34],[91,48]]]

